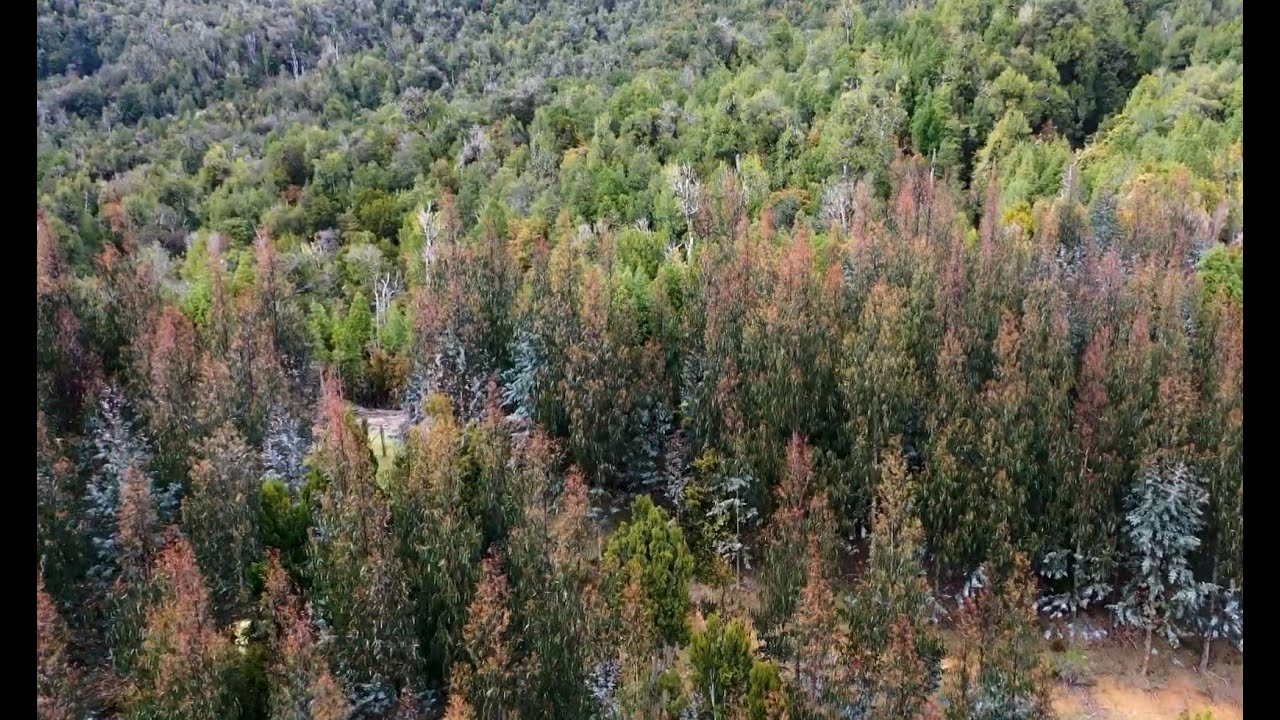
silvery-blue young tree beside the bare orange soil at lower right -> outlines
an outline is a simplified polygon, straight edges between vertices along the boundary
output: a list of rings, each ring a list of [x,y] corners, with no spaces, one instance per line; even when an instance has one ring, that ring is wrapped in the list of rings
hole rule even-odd
[[[1119,624],[1146,637],[1143,675],[1151,662],[1152,638],[1161,634],[1178,647],[1183,623],[1203,602],[1190,565],[1190,555],[1201,544],[1207,500],[1199,483],[1181,464],[1148,468],[1129,493],[1125,536],[1133,578],[1111,610]]]

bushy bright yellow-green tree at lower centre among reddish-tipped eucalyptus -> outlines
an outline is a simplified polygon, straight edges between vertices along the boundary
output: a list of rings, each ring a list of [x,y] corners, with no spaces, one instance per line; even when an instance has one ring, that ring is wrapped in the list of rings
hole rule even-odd
[[[631,520],[622,523],[604,551],[605,565],[622,583],[639,568],[645,607],[653,614],[659,639],[676,644],[689,633],[689,580],[694,559],[685,544],[685,533],[649,496],[640,496],[631,506]]]

